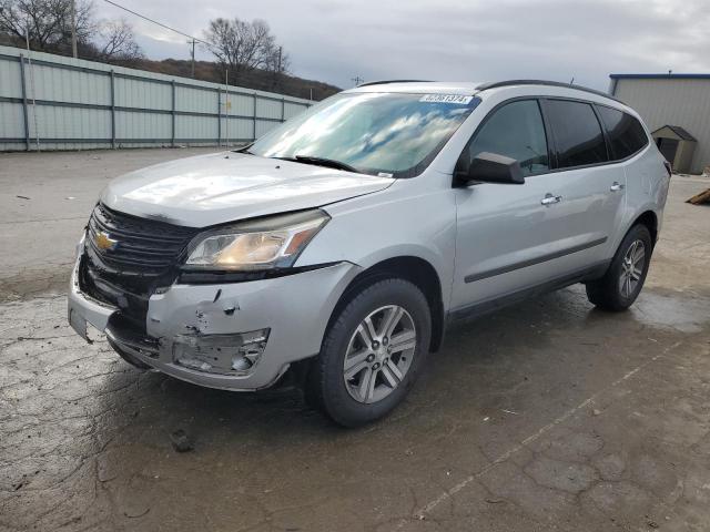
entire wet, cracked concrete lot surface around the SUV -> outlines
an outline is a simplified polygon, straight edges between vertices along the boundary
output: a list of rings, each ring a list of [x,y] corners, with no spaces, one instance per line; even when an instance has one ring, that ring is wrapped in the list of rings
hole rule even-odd
[[[710,206],[683,203],[708,180],[673,177],[629,311],[577,286],[459,327],[389,418],[343,430],[68,327],[99,190],[187,153],[0,155],[0,531],[710,530]]]

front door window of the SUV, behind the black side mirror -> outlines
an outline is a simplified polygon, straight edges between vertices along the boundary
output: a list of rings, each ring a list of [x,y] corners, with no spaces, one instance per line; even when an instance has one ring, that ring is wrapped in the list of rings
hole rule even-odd
[[[510,102],[494,111],[468,145],[470,160],[481,152],[515,158],[525,176],[547,172],[547,137],[537,100]]]

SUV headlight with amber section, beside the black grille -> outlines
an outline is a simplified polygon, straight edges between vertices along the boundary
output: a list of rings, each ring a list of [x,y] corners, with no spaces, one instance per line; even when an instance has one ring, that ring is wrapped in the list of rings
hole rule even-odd
[[[271,216],[199,235],[186,266],[254,270],[292,266],[331,219],[323,211]]]

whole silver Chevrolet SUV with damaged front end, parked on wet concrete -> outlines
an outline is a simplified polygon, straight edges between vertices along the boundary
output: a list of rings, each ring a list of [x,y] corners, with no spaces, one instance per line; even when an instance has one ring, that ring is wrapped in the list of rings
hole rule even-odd
[[[402,401],[447,324],[574,283],[629,307],[669,177],[638,114],[600,92],[365,84],[242,150],[113,181],[69,320],[201,386],[288,374],[358,426]]]

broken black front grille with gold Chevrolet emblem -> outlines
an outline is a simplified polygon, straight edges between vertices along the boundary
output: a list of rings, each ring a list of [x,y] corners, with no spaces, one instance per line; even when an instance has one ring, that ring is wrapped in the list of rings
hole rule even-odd
[[[81,289],[119,307],[144,329],[148,299],[155,288],[173,282],[176,263],[197,231],[97,205],[80,263]],[[100,246],[102,238],[113,246]]]

